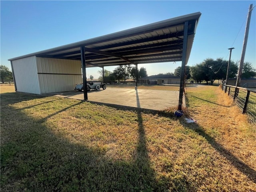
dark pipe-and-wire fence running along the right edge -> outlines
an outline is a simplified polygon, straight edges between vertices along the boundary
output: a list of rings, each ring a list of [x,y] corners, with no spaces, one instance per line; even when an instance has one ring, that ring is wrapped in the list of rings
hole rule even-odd
[[[222,90],[228,92],[230,98],[243,114],[248,115],[249,121],[256,123],[256,89],[237,87],[221,83]],[[235,91],[237,89],[237,92]],[[235,94],[236,92],[236,94]]]

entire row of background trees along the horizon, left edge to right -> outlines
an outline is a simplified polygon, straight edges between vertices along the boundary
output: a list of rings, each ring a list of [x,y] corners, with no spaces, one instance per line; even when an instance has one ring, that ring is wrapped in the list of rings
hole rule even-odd
[[[235,78],[238,73],[239,61],[230,62],[230,71],[229,78]],[[213,84],[214,80],[221,80],[222,78],[226,78],[228,68],[228,61],[223,60],[222,58],[217,58],[216,60],[212,58],[207,58],[203,62],[196,64],[195,66],[186,66],[185,75],[186,79],[194,79],[197,83],[201,83],[202,81],[206,81],[206,83],[210,82]],[[12,71],[4,65],[0,66],[0,79],[2,83],[4,81],[12,81]],[[181,67],[177,67],[174,72],[168,72],[166,74],[174,75],[180,77]],[[102,70],[99,70],[100,74],[99,81],[103,81]],[[146,68],[142,67],[137,70],[138,78],[147,77]],[[256,77],[256,69],[252,67],[252,63],[244,62],[243,70],[242,70],[242,78],[251,78]],[[132,78],[134,81],[136,80],[136,67],[130,65],[123,65],[116,67],[112,72],[108,70],[104,70],[104,78],[105,82],[115,82],[118,83],[123,80],[124,82]],[[93,79],[93,76],[90,76],[90,79]]]

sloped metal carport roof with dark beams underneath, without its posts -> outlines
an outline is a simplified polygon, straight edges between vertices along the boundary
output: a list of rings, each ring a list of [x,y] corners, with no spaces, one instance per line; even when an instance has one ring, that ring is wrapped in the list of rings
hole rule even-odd
[[[147,63],[150,62],[168,62],[174,60],[181,60],[182,54],[175,54],[175,50],[182,49],[182,38],[184,31],[184,22],[188,21],[190,34],[196,29],[196,25],[200,18],[201,13],[188,14],[177,18],[148,24],[145,26],[116,32],[113,34],[101,36],[98,38],[92,38],[89,40],[60,46],[57,48],[36,52],[34,54],[28,54],[18,58],[12,58],[10,60],[16,60],[28,56],[49,57],[49,58],[66,58],[80,60],[80,47],[84,46],[86,60],[100,60],[102,58],[108,58],[105,62],[113,64],[127,64],[127,60],[124,57],[129,57],[130,61],[136,61],[136,63],[142,63],[143,58]],[[188,48],[186,52],[186,62],[190,56],[194,35],[188,38]],[[180,40],[180,42],[178,42]],[[172,45],[180,45],[175,48]],[[177,45],[178,45],[177,44]],[[90,48],[90,49],[89,49]],[[129,50],[130,49],[130,50]],[[168,51],[170,49],[170,51]],[[152,55],[155,52],[169,52],[170,55],[157,56]],[[150,54],[150,57],[141,57],[140,54]],[[113,57],[114,56],[114,57]],[[111,61],[111,58],[113,60]],[[178,58],[180,57],[180,58]],[[120,58],[123,62],[117,62],[116,58]],[[166,58],[166,59],[162,59]],[[152,60],[151,60],[152,59]],[[97,63],[99,66],[104,66],[103,61]],[[119,60],[118,60],[119,61]],[[116,62],[116,63],[115,63]],[[145,63],[143,62],[143,63]],[[93,64],[93,63],[92,63]]]

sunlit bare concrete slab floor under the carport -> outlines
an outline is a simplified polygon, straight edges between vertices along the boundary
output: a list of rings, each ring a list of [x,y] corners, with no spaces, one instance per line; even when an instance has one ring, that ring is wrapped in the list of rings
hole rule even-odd
[[[49,95],[49,94],[48,94]],[[50,94],[52,96],[84,99],[82,92],[71,91]],[[150,90],[134,88],[112,88],[106,90],[92,90],[88,92],[88,100],[106,104],[116,104],[150,110],[164,110],[169,107],[178,106],[179,91]],[[183,100],[185,103],[185,101]]]

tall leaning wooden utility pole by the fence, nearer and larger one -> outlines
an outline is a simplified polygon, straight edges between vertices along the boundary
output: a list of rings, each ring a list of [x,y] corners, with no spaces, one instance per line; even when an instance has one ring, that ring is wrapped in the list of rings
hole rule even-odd
[[[249,7],[249,12],[248,12],[248,17],[247,17],[247,22],[246,22],[246,27],[245,27],[244,44],[243,44],[243,49],[242,49],[242,55],[241,55],[238,75],[237,75],[237,79],[236,79],[236,86],[240,86],[240,82],[241,82],[241,78],[242,78],[242,70],[243,70],[243,66],[244,66],[244,56],[245,56],[245,51],[246,51],[246,46],[247,46],[247,41],[248,41],[251,15],[252,15],[252,4],[250,4],[250,7]],[[238,94],[238,88],[235,89],[234,100],[236,98],[236,94]]]

